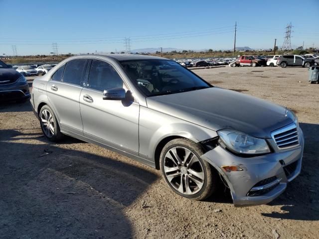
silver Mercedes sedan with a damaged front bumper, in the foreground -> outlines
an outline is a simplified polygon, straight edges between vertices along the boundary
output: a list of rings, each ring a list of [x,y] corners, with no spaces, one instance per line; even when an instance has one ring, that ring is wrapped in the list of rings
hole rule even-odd
[[[186,198],[203,200],[222,180],[235,206],[264,204],[301,171],[293,112],[165,58],[70,57],[33,81],[30,102],[47,139],[67,134],[139,160]]]

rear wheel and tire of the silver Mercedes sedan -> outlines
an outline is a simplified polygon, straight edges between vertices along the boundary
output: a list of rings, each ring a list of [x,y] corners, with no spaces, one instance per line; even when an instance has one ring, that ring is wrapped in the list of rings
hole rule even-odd
[[[63,134],[51,108],[47,105],[43,106],[40,110],[39,118],[44,136],[52,142],[58,142],[63,137]]]

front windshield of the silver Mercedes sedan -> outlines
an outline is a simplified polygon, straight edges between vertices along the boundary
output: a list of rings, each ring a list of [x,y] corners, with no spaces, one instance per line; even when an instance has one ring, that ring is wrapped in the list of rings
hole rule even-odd
[[[132,82],[148,97],[211,87],[174,61],[128,60],[120,63]]]

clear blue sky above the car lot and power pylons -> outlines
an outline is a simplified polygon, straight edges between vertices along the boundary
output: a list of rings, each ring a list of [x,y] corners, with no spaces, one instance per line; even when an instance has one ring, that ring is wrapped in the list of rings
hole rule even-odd
[[[231,49],[235,21],[237,46],[281,47],[292,22],[293,47],[319,47],[318,16],[319,0],[0,0],[0,53]]]

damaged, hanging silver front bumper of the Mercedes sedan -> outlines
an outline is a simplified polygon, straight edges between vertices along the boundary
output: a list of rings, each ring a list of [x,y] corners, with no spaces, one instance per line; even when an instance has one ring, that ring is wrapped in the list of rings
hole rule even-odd
[[[283,193],[287,183],[299,175],[304,151],[304,134],[300,128],[299,140],[297,147],[262,156],[244,158],[217,146],[201,158],[224,177],[236,207],[266,204]],[[225,171],[225,165],[234,165],[241,171]]]

